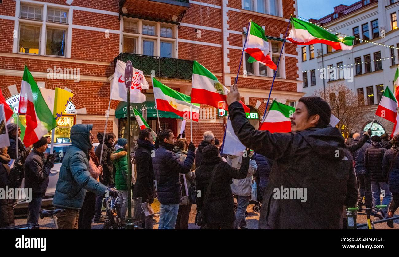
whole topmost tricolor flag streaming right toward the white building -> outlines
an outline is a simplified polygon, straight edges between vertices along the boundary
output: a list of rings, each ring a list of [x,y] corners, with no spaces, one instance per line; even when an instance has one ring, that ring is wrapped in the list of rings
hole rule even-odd
[[[291,17],[291,32],[287,39],[298,45],[327,44],[335,50],[351,50],[355,37],[338,37],[309,22]]]

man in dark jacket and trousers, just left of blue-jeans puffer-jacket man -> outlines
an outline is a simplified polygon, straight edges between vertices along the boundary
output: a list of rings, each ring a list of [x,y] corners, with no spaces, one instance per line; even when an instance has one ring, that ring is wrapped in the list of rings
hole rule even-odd
[[[359,140],[360,134],[355,133],[353,135],[354,143],[357,143]],[[362,147],[354,152],[355,157],[355,171],[356,176],[358,177],[359,182],[359,196],[358,196],[358,205],[361,207],[363,205],[363,197],[365,198],[366,208],[370,208],[373,197],[371,196],[371,182],[370,182],[370,173],[368,173],[364,167],[364,153],[367,148],[369,148],[371,144],[369,142],[365,142]]]

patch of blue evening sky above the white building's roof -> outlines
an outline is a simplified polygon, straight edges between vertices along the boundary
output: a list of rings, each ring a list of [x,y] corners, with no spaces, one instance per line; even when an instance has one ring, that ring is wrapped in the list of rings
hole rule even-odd
[[[298,15],[305,19],[320,19],[334,11],[334,6],[351,5],[359,0],[298,0]]]

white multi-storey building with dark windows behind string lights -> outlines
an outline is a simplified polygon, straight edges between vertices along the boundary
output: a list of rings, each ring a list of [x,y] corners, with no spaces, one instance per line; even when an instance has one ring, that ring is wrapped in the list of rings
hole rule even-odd
[[[319,20],[310,19],[310,22],[328,28],[329,32],[334,30],[360,40],[355,40],[356,44],[350,51],[335,51],[326,44],[298,46],[299,73],[303,79],[298,92],[311,96],[315,90],[323,90],[334,83],[345,83],[359,96],[359,104],[364,105],[367,114],[363,124],[357,128],[358,131],[363,130],[373,120],[383,90],[389,87],[394,92],[393,80],[399,64],[397,17],[399,0],[361,0],[350,6],[340,4],[334,7],[333,13]],[[353,68],[354,76],[352,79],[321,79],[320,69],[329,67]],[[392,128],[393,123],[378,116],[375,118],[373,130],[379,131],[374,134],[390,134]]]

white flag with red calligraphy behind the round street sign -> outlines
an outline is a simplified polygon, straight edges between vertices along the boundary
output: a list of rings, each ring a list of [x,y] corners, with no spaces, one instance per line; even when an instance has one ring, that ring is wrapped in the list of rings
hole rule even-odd
[[[124,70],[126,63],[117,60],[115,66],[114,79],[111,84],[111,99],[127,102],[127,88],[124,84]],[[144,78],[141,70],[133,67],[133,79],[130,86],[130,102],[142,103],[146,101],[146,96],[141,93],[142,89],[148,89],[148,82]]]

